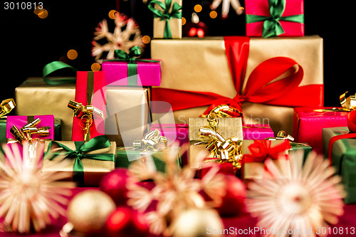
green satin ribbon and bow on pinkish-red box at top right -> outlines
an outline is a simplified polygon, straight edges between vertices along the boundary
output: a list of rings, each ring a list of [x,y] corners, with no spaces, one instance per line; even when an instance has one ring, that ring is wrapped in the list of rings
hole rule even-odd
[[[246,14],[246,23],[255,23],[263,21],[262,37],[268,38],[279,36],[284,30],[279,21],[293,21],[304,23],[304,15],[282,16],[286,9],[286,0],[268,0],[271,16],[258,16]]]

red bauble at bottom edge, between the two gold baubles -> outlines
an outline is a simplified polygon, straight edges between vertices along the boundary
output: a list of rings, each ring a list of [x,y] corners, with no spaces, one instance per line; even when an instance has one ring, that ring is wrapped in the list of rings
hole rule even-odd
[[[139,237],[150,233],[145,215],[130,206],[117,207],[108,217],[105,228],[110,237]]]

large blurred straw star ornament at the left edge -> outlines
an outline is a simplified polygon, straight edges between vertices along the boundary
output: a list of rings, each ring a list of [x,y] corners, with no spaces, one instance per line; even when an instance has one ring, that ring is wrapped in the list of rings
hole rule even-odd
[[[0,216],[4,219],[0,230],[30,233],[34,229],[38,232],[51,223],[51,217],[66,216],[64,206],[74,184],[58,181],[68,174],[42,172],[43,149],[39,146],[25,142],[22,151],[19,147],[19,144],[3,146],[6,162],[0,162]],[[0,159],[5,160],[1,152]]]

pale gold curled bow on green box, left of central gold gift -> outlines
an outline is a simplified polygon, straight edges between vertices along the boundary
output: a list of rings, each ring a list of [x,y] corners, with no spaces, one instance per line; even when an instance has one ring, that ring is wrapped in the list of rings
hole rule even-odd
[[[133,147],[142,149],[142,152],[157,152],[161,147],[167,147],[167,137],[161,136],[155,129],[147,132],[141,140],[134,141]]]

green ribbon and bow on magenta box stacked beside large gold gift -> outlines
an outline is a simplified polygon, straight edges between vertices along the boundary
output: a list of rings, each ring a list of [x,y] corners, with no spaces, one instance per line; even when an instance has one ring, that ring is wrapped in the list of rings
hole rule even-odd
[[[137,85],[137,61],[146,63],[159,63],[159,60],[140,59],[142,52],[139,46],[130,48],[130,52],[126,53],[120,49],[115,50],[115,59],[107,59],[103,61],[122,61],[127,62],[127,85]]]

